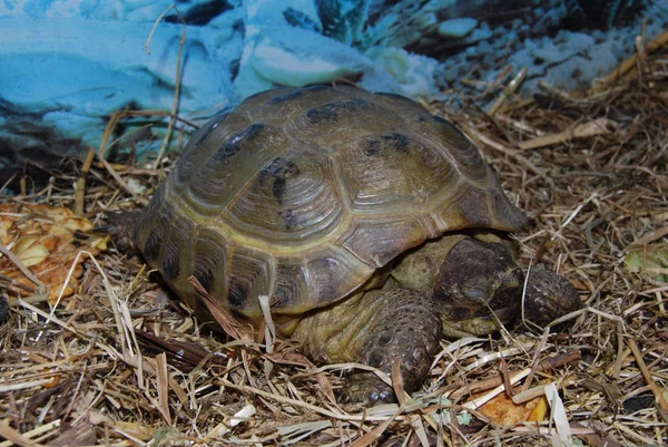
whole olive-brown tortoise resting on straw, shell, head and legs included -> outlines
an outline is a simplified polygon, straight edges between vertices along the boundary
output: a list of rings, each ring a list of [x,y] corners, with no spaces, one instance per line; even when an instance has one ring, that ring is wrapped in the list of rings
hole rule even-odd
[[[116,233],[203,321],[190,276],[256,327],[268,295],[277,332],[316,361],[391,373],[400,360],[412,392],[443,336],[489,334],[518,314],[525,269],[509,234],[524,221],[450,122],[399,95],[316,85],[214,117]],[[581,305],[568,280],[536,272],[532,320]],[[364,370],[342,397],[394,399]]]

